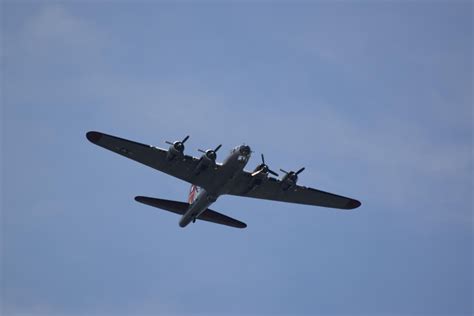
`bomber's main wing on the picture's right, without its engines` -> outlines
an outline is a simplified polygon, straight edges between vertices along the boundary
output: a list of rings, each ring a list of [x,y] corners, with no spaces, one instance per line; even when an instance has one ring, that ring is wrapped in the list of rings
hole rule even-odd
[[[275,178],[264,179],[260,185],[253,187],[252,182],[252,175],[245,172],[228,194],[348,210],[361,205],[359,201],[348,197],[299,185],[283,190],[282,182]]]

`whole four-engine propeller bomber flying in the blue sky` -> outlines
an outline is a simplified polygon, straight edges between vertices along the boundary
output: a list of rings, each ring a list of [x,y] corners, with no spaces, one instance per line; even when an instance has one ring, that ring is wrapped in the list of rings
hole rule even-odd
[[[361,205],[355,199],[297,185],[298,175],[305,170],[304,167],[298,171],[280,169],[284,173],[281,180],[271,177],[278,177],[278,174],[265,163],[263,154],[262,163],[252,172],[244,170],[252,154],[248,145],[233,148],[227,158],[218,163],[217,151],[222,145],[215,149],[199,149],[202,153],[200,158],[184,154],[184,144],[189,135],[183,140],[166,141],[168,150],[96,131],[88,132],[86,137],[95,145],[191,183],[187,203],[135,197],[137,202],[181,215],[180,227],[196,220],[236,228],[247,227],[241,221],[209,209],[224,194],[346,210]]]

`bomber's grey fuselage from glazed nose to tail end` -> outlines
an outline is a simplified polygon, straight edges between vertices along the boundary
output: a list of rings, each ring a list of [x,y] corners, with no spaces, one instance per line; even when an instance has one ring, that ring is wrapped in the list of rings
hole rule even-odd
[[[226,194],[232,186],[233,180],[243,172],[251,155],[250,147],[247,145],[237,146],[230,152],[219,168],[219,175],[211,186],[202,188],[196,199],[189,205],[179,221],[179,226],[185,227],[195,221],[217,198]]]

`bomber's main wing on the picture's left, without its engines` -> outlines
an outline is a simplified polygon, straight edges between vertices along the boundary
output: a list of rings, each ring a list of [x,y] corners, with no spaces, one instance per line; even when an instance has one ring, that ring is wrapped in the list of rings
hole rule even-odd
[[[194,174],[199,163],[198,158],[184,155],[182,159],[169,161],[166,158],[167,151],[165,149],[100,132],[88,132],[86,136],[89,141],[98,146],[197,186],[206,187],[206,184],[212,181],[214,176],[215,170],[210,168],[199,175]]]

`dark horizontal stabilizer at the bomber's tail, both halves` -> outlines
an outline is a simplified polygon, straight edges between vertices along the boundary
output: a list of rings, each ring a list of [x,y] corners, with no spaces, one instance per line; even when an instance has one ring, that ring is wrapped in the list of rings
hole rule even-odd
[[[150,205],[153,207],[161,208],[163,210],[166,210],[175,214],[179,214],[179,215],[183,215],[184,213],[186,213],[186,211],[189,208],[188,203],[157,199],[157,198],[151,198],[151,197],[146,197],[146,196],[136,196],[135,201],[146,204],[146,205]],[[211,209],[206,209],[201,215],[199,215],[197,219],[216,223],[216,224],[236,227],[236,228],[247,227],[245,223],[242,223],[241,221],[238,221],[236,219],[233,219],[232,217],[218,213]]]

